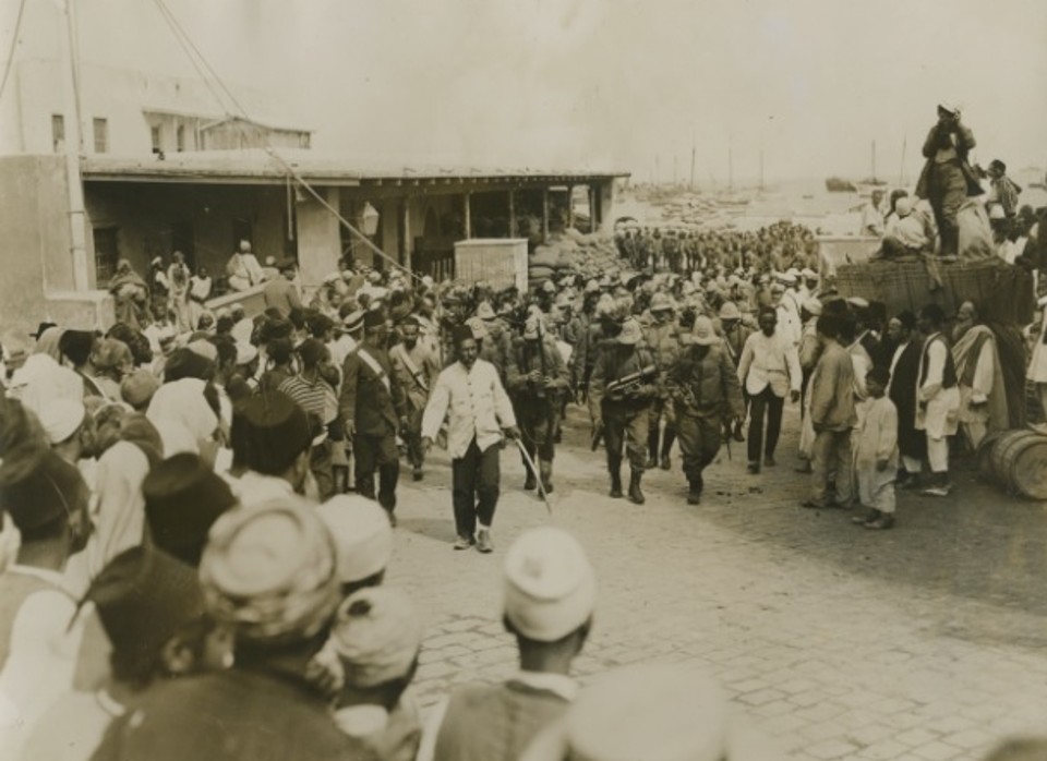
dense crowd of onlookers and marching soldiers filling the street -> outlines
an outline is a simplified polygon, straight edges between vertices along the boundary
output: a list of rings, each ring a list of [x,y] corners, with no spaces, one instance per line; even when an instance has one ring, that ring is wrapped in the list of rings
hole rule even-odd
[[[447,450],[452,546],[488,554],[504,447],[549,499],[571,404],[610,496],[636,505],[674,447],[690,505],[725,444],[754,480],[779,467],[795,404],[804,507],[891,529],[895,490],[946,496],[958,452],[1026,424],[1026,376],[1047,397],[1047,318],[845,299],[787,222],[657,233],[527,292],[341,262],[303,294],[293,262],[263,273],[245,244],[229,285],[263,286],[253,316],[210,312],[206,271],[176,254],[148,279],[118,269],[104,335],[4,334],[0,756],[768,758],[698,675],[637,666],[579,691],[597,579],[552,527],[517,536],[498,580],[519,673],[423,725],[422,627],[384,583],[400,463],[422,481]]]

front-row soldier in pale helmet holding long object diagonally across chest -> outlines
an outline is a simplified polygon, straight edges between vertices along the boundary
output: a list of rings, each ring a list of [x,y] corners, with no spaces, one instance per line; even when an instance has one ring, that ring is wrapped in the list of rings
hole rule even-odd
[[[643,504],[640,481],[647,464],[647,420],[654,398],[654,377],[642,378],[622,391],[607,391],[607,385],[653,365],[651,352],[640,346],[642,338],[640,324],[626,319],[617,339],[607,341],[600,351],[589,380],[589,413],[594,431],[603,433],[611,496],[622,496],[622,447],[625,445],[631,471],[629,499],[637,505]]]

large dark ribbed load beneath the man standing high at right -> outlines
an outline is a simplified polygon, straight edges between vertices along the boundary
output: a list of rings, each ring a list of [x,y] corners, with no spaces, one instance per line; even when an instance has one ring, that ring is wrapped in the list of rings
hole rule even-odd
[[[1035,295],[1030,273],[999,259],[938,265],[943,288],[930,290],[923,262],[879,261],[844,264],[837,268],[837,289],[844,298],[858,295],[887,304],[887,313],[918,312],[939,304],[947,315],[972,301],[987,322],[1027,325],[1033,321]]]

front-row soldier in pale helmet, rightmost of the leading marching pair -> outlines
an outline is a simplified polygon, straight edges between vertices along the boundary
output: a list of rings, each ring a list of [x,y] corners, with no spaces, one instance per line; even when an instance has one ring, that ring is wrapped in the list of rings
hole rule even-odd
[[[708,317],[695,321],[696,343],[689,346],[669,375],[675,390],[676,427],[684,456],[684,475],[690,485],[687,502],[701,497],[702,470],[720,451],[724,420],[743,414],[742,389],[734,363],[712,333]],[[702,354],[702,350],[705,353]]]

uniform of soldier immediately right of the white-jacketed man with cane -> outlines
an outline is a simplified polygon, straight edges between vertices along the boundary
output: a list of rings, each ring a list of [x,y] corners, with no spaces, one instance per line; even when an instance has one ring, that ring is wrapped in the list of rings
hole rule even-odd
[[[520,440],[531,459],[538,457],[542,486],[551,492],[556,430],[563,410],[562,398],[567,390],[568,373],[556,341],[549,334],[533,341],[517,339],[515,359],[509,374],[509,396],[520,426]],[[531,373],[544,379],[533,382]],[[527,467],[524,488],[534,488],[534,473]]]

